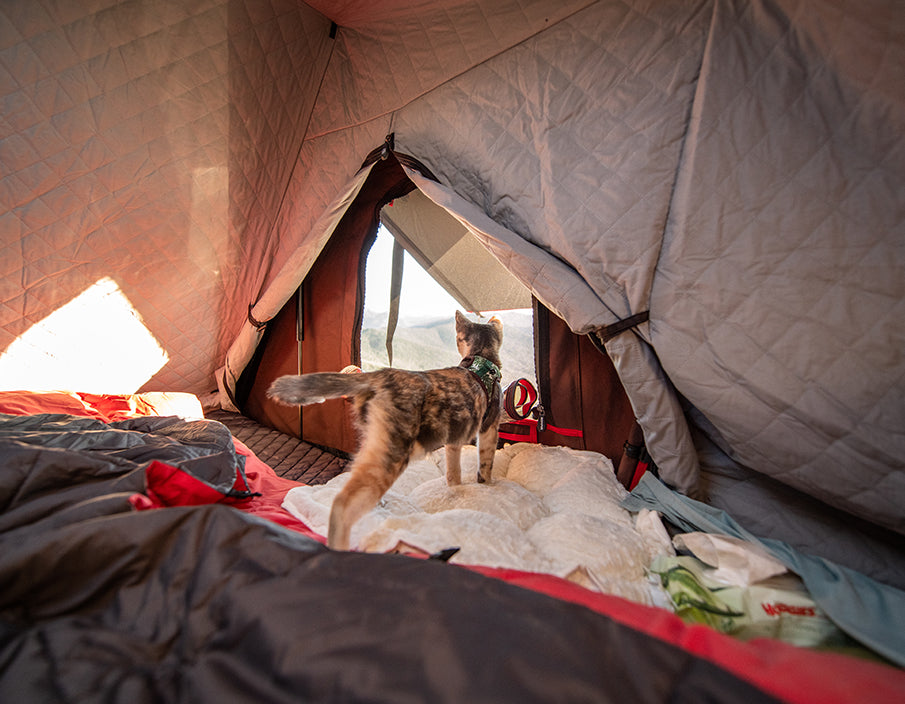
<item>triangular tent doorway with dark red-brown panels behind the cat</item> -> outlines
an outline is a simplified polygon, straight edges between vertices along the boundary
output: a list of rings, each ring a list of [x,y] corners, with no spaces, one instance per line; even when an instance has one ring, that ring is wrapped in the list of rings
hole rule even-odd
[[[504,247],[491,253],[487,243],[500,245],[505,236],[495,239],[487,228],[492,233],[499,226],[473,222],[479,214],[432,186],[436,181],[412,166],[415,159],[396,152],[381,159],[383,151],[366,160],[369,170],[350,184],[351,201],[326,244],[295,295],[268,322],[255,359],[236,385],[239,408],[311,444],[355,452],[358,435],[348,400],[288,407],[270,400],[266,390],[282,374],[389,366],[387,321],[398,243],[395,258],[403,275],[397,276],[392,366],[457,365],[455,310],[472,319],[476,312],[495,314],[503,321],[504,388],[528,379],[537,391],[534,410],[543,408],[543,427],[532,433],[530,421],[541,426],[540,419],[520,418],[526,423],[511,434],[529,432],[513,441],[595,450],[618,462],[634,414],[609,358],[532,296],[497,258],[505,258]],[[445,293],[435,296],[431,290],[438,288]],[[422,304],[426,311],[419,310]],[[522,403],[519,413],[525,411]]]

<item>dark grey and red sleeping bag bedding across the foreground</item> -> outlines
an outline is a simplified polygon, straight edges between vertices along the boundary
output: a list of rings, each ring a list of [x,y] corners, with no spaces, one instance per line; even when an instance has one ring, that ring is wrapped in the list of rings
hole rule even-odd
[[[216,422],[3,414],[0,456],[3,701],[816,702],[903,686],[563,580],[332,553],[279,509],[298,485]]]

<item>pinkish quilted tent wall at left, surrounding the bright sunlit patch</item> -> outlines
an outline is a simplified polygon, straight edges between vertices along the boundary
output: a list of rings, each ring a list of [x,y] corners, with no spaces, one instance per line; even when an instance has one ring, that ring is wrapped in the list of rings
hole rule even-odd
[[[233,301],[274,237],[329,26],[295,2],[3,3],[0,351],[111,279],[165,355],[139,383],[213,388],[244,315]],[[121,331],[86,315],[69,344],[109,364]],[[41,382],[23,374],[5,366],[0,382]]]

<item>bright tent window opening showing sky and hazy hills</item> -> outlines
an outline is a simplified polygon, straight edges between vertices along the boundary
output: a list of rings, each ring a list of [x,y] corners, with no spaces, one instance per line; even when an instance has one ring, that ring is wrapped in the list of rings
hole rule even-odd
[[[368,253],[361,330],[361,366],[365,371],[389,366],[386,339],[395,241],[387,227],[381,225],[377,239]],[[417,370],[455,366],[459,363],[455,311],[457,308],[463,311],[474,310],[472,306],[462,302],[462,298],[469,295],[462,290],[474,288],[477,291],[474,274],[463,280],[447,279],[441,285],[434,278],[434,272],[429,273],[415,259],[409,247],[405,247],[402,272],[398,323],[392,342],[392,366]],[[481,279],[478,278],[477,281],[480,282]],[[462,290],[456,284],[460,284]],[[507,286],[508,284],[506,282]],[[493,280],[489,284],[485,281],[485,285],[492,289]],[[509,298],[500,296],[498,300],[506,302],[511,298],[509,291],[502,293]],[[503,321],[501,356],[504,386],[521,377],[536,385],[533,313],[530,295],[527,291],[524,293],[524,300],[528,301],[527,308],[500,310],[500,307],[493,306],[492,310],[482,311],[482,315],[487,318],[496,315]],[[487,303],[493,300],[494,292],[489,290],[480,295],[481,302]]]

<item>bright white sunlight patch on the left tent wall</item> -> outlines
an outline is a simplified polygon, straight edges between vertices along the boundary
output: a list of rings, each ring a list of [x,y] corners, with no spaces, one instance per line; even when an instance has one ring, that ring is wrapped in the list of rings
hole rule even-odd
[[[0,390],[134,393],[168,359],[117,283],[104,277],[0,355]]]

